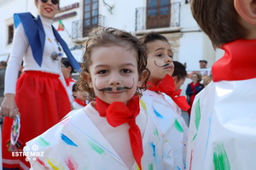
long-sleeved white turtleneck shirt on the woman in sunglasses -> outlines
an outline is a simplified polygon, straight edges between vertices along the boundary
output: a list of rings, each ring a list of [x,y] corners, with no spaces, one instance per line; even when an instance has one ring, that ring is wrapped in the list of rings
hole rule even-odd
[[[61,57],[58,60],[54,60],[51,59],[50,56],[54,51],[58,54],[60,53],[58,49],[59,46],[55,42],[55,36],[51,27],[51,25],[53,24],[53,20],[49,20],[42,16],[40,16],[40,19],[42,20],[45,32],[45,44],[42,65],[40,67],[36,60],[33,58],[32,48],[29,45],[28,39],[24,31],[24,27],[22,23],[20,23],[20,25],[15,30],[12,50],[6,69],[4,94],[15,94],[16,82],[22,60],[24,61],[23,71],[45,71],[58,74],[61,76],[61,82],[63,83],[64,87],[66,87],[64,77],[61,73]],[[62,48],[61,53],[64,54]]]

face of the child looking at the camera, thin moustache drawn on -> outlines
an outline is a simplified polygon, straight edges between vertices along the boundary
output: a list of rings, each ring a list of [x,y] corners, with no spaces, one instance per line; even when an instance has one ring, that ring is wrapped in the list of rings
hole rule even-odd
[[[126,102],[141,85],[137,71],[136,51],[122,46],[95,48],[91,53],[87,82],[102,101]]]

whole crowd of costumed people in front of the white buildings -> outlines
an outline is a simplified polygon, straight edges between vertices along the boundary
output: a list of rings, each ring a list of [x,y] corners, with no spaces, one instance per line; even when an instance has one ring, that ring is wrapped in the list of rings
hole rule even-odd
[[[59,3],[35,0],[37,18],[14,16],[12,51],[0,62],[4,170],[256,168],[253,0],[191,1],[201,29],[226,52],[211,75],[188,75],[160,33],[137,38],[104,26],[88,34],[79,64],[52,26]],[[44,156],[23,154],[33,151]]]

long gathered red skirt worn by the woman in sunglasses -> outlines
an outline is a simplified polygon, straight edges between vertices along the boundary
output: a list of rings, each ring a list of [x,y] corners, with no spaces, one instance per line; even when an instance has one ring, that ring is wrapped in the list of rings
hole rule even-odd
[[[59,75],[26,71],[18,79],[15,100],[20,111],[20,137],[23,149],[26,142],[44,133],[49,127],[71,111],[67,91],[62,85]],[[3,167],[26,169],[29,162],[25,156],[12,156],[6,146],[10,139],[10,128],[13,119],[5,117],[3,121]]]

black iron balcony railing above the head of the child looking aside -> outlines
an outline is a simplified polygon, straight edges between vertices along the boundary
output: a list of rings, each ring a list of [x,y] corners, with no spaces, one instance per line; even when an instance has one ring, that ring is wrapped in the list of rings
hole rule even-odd
[[[168,27],[177,27],[180,26],[180,8],[181,8],[181,3],[170,3],[168,6],[166,7],[155,7],[154,8],[150,8],[147,9],[146,7],[143,8],[136,8],[136,26],[135,26],[135,31],[142,31],[142,30],[147,30],[149,28],[147,28],[147,13],[148,14],[153,14],[152,11],[156,11],[157,8],[169,8],[170,6],[170,17],[168,18],[167,22],[167,26]],[[165,11],[164,11],[165,12]],[[154,19],[153,19],[154,20]],[[155,20],[160,20],[158,18],[155,18]],[[150,19],[150,21],[152,21],[152,19]],[[157,23],[160,22],[155,22],[156,25],[154,26],[154,28],[160,28],[163,26],[158,26]]]

